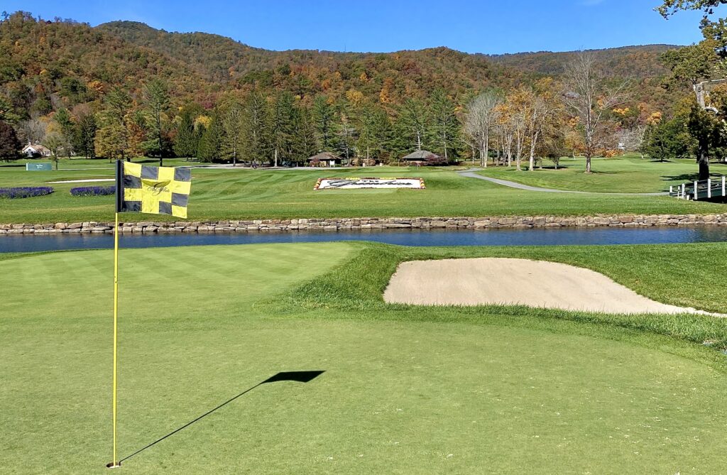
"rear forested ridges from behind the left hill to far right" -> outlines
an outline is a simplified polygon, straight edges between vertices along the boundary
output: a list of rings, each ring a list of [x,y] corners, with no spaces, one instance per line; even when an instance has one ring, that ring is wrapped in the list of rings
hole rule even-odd
[[[468,55],[446,47],[393,53],[343,53],[316,50],[270,51],[249,47],[225,36],[209,33],[174,33],[144,23],[118,21],[95,29],[111,33],[137,46],[186,62],[210,81],[230,82],[235,87],[256,85],[288,89],[296,95],[325,92],[340,96],[354,88],[366,97],[384,91],[382,103],[401,103],[403,97],[428,95],[443,87],[455,95],[498,87],[515,87],[540,76],[560,76],[563,65],[576,52],[534,52],[515,55]],[[668,45],[600,49],[598,62],[611,76],[632,78],[635,84],[649,80],[659,87],[667,74],[659,55]],[[656,97],[654,97],[656,95]],[[645,97],[656,103],[662,91]],[[648,96],[648,97],[646,97]],[[659,104],[662,105],[662,104]]]

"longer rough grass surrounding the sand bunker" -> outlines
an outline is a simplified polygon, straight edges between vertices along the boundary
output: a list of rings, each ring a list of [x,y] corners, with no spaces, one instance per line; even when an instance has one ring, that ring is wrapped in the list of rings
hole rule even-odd
[[[382,294],[406,260],[509,257],[550,260],[601,272],[640,295],[675,306],[727,314],[727,289],[715,276],[727,274],[726,243],[636,246],[395,247],[366,244],[336,271],[291,292],[284,308],[328,310],[334,316],[356,309],[357,319],[480,322],[490,316],[523,314],[645,330],[694,343],[727,348],[727,319],[702,315],[610,315],[513,306],[433,307],[391,305]],[[517,289],[505,290],[517,292]],[[514,309],[517,308],[515,311]]]

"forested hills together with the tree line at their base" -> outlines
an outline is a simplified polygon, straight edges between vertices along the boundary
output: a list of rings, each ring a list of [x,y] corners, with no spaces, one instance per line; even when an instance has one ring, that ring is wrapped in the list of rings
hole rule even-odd
[[[605,111],[612,133],[599,150],[640,137],[686,95],[664,87],[659,55],[668,48],[593,52],[603,87],[628,79],[619,89],[624,100]],[[575,57],[446,47],[278,52],[209,33],[128,21],[92,28],[15,12],[0,20],[0,121],[23,141],[46,140],[66,152],[223,160],[239,150],[241,159],[273,163],[317,151],[389,160],[421,148],[447,161],[486,160],[481,134],[491,129],[498,156],[515,153],[519,163],[528,147],[531,159],[581,147],[579,121],[563,107],[564,66]],[[490,115],[477,119],[476,104]],[[543,107],[545,116],[534,113]],[[548,123],[537,125],[543,117]]]

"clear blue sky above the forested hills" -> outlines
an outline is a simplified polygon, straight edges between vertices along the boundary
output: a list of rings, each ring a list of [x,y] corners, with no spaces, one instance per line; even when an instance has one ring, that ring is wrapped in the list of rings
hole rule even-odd
[[[664,20],[658,0],[4,0],[45,18],[136,20],[267,49],[389,52],[446,46],[500,54],[699,41],[699,13]]]

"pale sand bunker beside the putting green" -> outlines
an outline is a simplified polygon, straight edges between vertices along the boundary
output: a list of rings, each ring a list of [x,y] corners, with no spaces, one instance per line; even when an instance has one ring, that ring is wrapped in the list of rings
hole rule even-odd
[[[608,314],[706,313],[654,302],[588,269],[505,258],[402,263],[384,300],[417,305],[525,305]]]

